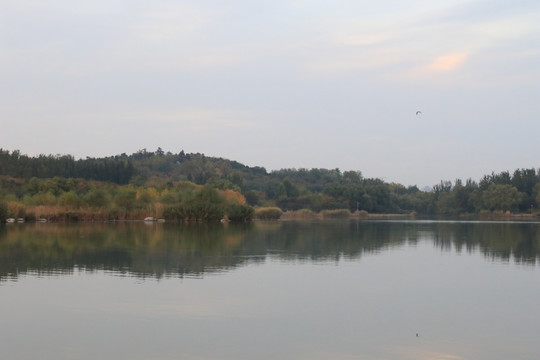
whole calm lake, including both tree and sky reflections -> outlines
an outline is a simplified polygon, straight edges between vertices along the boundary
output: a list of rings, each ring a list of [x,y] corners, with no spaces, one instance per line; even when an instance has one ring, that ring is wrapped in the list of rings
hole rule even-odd
[[[531,360],[540,223],[0,226],[0,359]]]

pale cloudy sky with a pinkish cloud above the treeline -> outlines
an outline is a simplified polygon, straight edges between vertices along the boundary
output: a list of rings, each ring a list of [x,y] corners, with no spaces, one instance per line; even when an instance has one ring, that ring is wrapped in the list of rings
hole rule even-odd
[[[538,0],[0,0],[0,148],[31,156],[422,187],[539,168],[539,115]]]

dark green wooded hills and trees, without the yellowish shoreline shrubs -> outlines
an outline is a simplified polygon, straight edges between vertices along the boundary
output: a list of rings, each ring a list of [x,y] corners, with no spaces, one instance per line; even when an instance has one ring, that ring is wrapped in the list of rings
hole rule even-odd
[[[40,179],[75,178],[103,184],[154,188],[156,201],[165,190],[181,183],[206,185],[241,193],[252,206],[278,206],[283,210],[348,209],[370,213],[461,214],[481,211],[532,212],[540,203],[540,169],[518,169],[485,175],[479,181],[441,181],[433,191],[416,186],[364,178],[360,171],[339,169],[282,169],[267,172],[237,161],[199,153],[177,154],[140,150],[131,155],[75,159],[70,155],[30,157],[0,149],[0,200],[40,193],[75,192],[86,196],[91,187],[76,189]],[[59,185],[60,184],[60,185]],[[98,186],[98,185],[92,185]],[[105,186],[105,185],[103,185]],[[84,190],[86,189],[86,190]],[[180,190],[178,190],[180,191]],[[114,198],[115,194],[110,194]],[[180,195],[179,195],[180,196]]]

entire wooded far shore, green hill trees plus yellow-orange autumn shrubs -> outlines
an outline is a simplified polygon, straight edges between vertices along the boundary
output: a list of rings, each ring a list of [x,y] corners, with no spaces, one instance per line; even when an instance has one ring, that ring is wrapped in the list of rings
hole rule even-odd
[[[313,213],[534,213],[540,169],[442,180],[432,191],[360,171],[266,171],[204,154],[140,150],[106,158],[30,157],[0,149],[0,218],[249,220],[261,209]]]

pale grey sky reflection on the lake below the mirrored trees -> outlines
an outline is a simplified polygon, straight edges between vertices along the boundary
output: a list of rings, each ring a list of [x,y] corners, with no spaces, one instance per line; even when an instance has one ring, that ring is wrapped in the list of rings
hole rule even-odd
[[[429,242],[200,279],[26,275],[0,285],[0,348],[44,360],[525,360],[540,351],[537,278]]]

